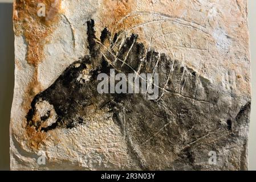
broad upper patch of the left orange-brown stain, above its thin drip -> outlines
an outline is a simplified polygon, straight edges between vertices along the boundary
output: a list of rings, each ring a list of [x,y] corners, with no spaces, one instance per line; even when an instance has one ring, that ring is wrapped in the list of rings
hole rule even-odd
[[[38,16],[39,3],[45,5],[46,16]],[[59,20],[60,0],[17,0],[14,2],[15,34],[23,34],[27,43],[27,62],[35,65],[43,60],[43,48],[47,37]]]

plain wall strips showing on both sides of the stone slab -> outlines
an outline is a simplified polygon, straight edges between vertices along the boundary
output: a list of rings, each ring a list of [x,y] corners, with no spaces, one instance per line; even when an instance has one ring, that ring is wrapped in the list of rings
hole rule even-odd
[[[191,1],[191,0],[186,0]],[[235,1],[235,0],[232,0]],[[251,46],[253,98],[249,137],[249,169],[256,170],[256,0],[247,0]],[[9,3],[7,3],[9,2]],[[9,167],[9,122],[14,86],[14,35],[12,0],[0,0],[0,170]]]

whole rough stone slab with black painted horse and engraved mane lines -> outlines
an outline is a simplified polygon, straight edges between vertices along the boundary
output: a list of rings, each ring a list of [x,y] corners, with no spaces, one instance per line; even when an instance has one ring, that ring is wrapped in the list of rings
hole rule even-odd
[[[246,0],[17,0],[13,19],[11,169],[247,169]],[[159,73],[159,98],[97,93],[111,68]]]

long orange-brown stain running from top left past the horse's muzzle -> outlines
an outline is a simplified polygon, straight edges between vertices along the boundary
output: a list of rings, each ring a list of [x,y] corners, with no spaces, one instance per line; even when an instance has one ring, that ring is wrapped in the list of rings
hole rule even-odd
[[[16,0],[13,6],[14,32],[17,36],[24,36],[27,44],[26,60],[34,66],[34,73],[22,103],[23,109],[28,111],[32,98],[42,91],[38,81],[38,64],[44,59],[44,45],[50,41],[49,35],[59,22],[61,0]],[[38,16],[39,10],[44,7],[46,16]],[[24,122],[26,123],[26,118]],[[26,137],[29,146],[38,149],[46,134],[27,126]]]

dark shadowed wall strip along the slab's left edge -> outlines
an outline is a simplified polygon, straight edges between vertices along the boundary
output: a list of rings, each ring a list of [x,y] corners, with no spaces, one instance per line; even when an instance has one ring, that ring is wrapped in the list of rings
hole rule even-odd
[[[0,170],[10,169],[9,124],[14,88],[13,4],[0,3]]]

